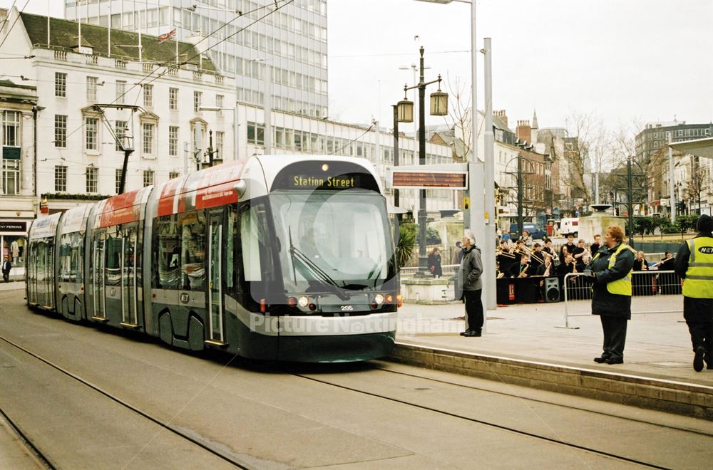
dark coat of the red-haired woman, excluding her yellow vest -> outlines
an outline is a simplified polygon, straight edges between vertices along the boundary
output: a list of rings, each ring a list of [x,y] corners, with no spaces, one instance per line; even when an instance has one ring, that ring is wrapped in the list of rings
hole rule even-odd
[[[623,249],[617,254],[617,261],[609,268],[609,258],[619,249],[619,245],[612,249],[602,246],[599,256],[590,261],[587,266],[595,274],[592,291],[592,314],[611,315],[631,319],[631,296],[612,294],[607,291],[607,283],[624,278],[634,266],[634,254],[630,249]]]

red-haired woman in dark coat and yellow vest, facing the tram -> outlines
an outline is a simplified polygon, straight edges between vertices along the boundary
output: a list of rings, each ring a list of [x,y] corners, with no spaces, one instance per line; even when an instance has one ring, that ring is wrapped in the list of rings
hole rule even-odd
[[[624,243],[624,231],[607,228],[604,245],[585,269],[593,282],[592,313],[600,315],[604,331],[604,351],[595,362],[624,362],[627,321],[631,319],[631,271],[634,253]]]

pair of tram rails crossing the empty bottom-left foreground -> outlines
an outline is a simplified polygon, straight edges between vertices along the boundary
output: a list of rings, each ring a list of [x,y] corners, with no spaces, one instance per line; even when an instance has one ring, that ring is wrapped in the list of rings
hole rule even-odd
[[[207,451],[207,453],[212,454],[213,456],[216,456],[218,459],[221,459],[222,461],[225,461],[225,463],[230,464],[232,466],[237,467],[238,469],[252,469],[253,467],[247,464],[244,461],[241,461],[240,459],[236,459],[235,456],[232,456],[228,454],[225,451],[222,451],[220,449],[217,449],[217,447],[212,446],[211,444],[207,442],[203,442],[201,439],[198,439],[194,436],[191,436],[187,432],[183,432],[181,429],[178,429],[178,427],[173,426],[170,422],[164,422],[161,419],[158,419],[156,417],[153,417],[151,414],[148,412],[145,412],[141,409],[138,409],[138,407],[135,407],[133,404],[130,404],[128,402],[125,402],[125,400],[121,399],[120,397],[112,394],[111,392],[108,392],[106,390],[103,390],[101,387],[98,387],[98,385],[94,385],[91,382],[88,382],[87,380],[84,380],[82,377],[79,377],[76,374],[73,374],[69,370],[66,370],[64,367],[61,367],[61,365],[57,365],[53,363],[51,360],[46,359],[45,357],[42,357],[39,354],[36,354],[35,352],[32,352],[28,350],[27,348],[24,348],[23,346],[15,343],[12,340],[9,340],[7,338],[4,338],[3,336],[0,336],[0,340],[4,341],[4,343],[11,345],[13,348],[16,348],[17,350],[20,350],[21,352],[24,352],[26,355],[29,355],[30,357],[33,357],[36,360],[39,360],[40,362],[43,362],[43,364],[48,365],[49,367],[52,367],[54,370],[57,370],[58,372],[61,372],[61,374],[65,375],[66,377],[70,377],[72,380],[78,382],[79,384],[88,387],[89,389],[93,390],[94,392],[97,392],[100,395],[103,395],[103,397],[108,398],[111,400],[111,402],[114,402],[120,407],[123,407],[125,409],[130,410],[131,412],[134,412],[140,417],[143,417],[144,419],[147,419],[150,422],[153,422],[154,424],[158,424],[158,426],[161,427],[161,429],[165,429],[166,431],[174,434],[176,437],[179,437],[180,439],[185,440],[186,442],[190,442],[191,444],[194,444],[197,447],[200,447],[204,451]],[[25,432],[21,430],[21,428],[16,424],[11,417],[9,417],[2,409],[0,409],[0,416],[6,419],[6,422],[9,423],[11,428],[16,432],[19,437],[24,441],[27,447],[33,451],[33,453],[38,456],[38,458],[41,460],[42,464],[46,465],[47,468],[49,469],[55,469],[59,468],[56,464],[56,462],[53,462],[51,459],[51,456],[46,455],[45,452],[40,448],[39,444],[34,442],[31,437],[29,437]]]

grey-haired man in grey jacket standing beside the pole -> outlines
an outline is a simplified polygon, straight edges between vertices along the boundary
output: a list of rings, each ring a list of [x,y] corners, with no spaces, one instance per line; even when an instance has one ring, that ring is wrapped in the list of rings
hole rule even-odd
[[[458,281],[463,286],[466,299],[466,330],[461,336],[480,336],[483,328],[483,261],[481,249],[476,246],[476,238],[470,231],[463,236],[463,259],[458,271]]]

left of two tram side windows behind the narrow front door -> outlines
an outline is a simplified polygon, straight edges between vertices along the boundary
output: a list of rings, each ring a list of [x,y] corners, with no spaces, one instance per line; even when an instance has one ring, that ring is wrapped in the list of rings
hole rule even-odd
[[[163,216],[156,224],[158,239],[158,271],[154,273],[155,287],[164,289],[178,289],[180,287],[180,237],[175,214]]]

